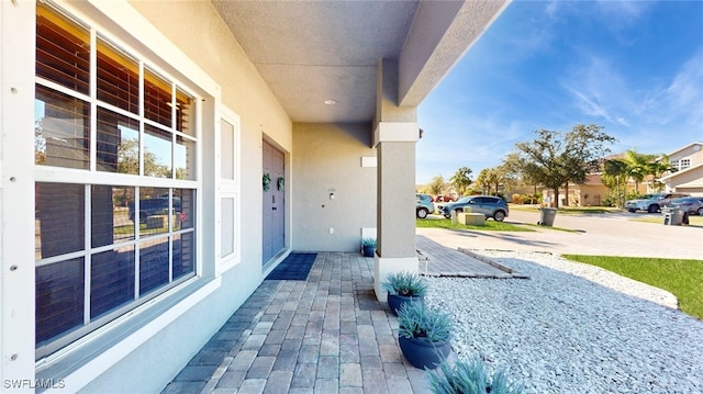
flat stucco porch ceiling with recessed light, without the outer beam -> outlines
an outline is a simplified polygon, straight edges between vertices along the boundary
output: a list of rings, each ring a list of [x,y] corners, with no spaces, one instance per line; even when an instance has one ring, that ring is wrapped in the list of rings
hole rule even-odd
[[[213,1],[293,122],[370,122],[419,1]],[[325,105],[334,100],[335,105]]]

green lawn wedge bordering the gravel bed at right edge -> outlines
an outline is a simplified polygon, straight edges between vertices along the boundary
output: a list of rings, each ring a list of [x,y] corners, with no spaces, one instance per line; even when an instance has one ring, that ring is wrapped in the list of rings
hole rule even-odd
[[[679,299],[681,311],[703,319],[703,260],[582,255],[563,257],[669,291]]]

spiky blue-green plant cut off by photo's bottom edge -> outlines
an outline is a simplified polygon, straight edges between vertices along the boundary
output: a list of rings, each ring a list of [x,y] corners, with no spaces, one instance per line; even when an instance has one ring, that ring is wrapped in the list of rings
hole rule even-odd
[[[504,371],[489,376],[479,358],[459,360],[454,367],[447,361],[427,371],[429,390],[435,394],[522,394],[522,386],[509,383]]]

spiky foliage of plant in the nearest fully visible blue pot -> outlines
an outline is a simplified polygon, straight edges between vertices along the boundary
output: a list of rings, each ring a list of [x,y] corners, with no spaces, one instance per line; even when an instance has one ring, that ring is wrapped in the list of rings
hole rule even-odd
[[[398,334],[405,338],[442,342],[451,335],[451,319],[446,313],[413,301],[398,312]]]

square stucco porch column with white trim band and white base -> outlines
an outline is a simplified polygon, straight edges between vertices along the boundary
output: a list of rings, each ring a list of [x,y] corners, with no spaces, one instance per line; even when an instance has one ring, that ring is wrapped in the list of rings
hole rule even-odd
[[[377,238],[373,289],[390,272],[417,271],[415,254],[415,145],[420,137],[415,108],[399,108],[398,66],[383,59],[378,72],[377,123],[373,140],[378,156]]]

